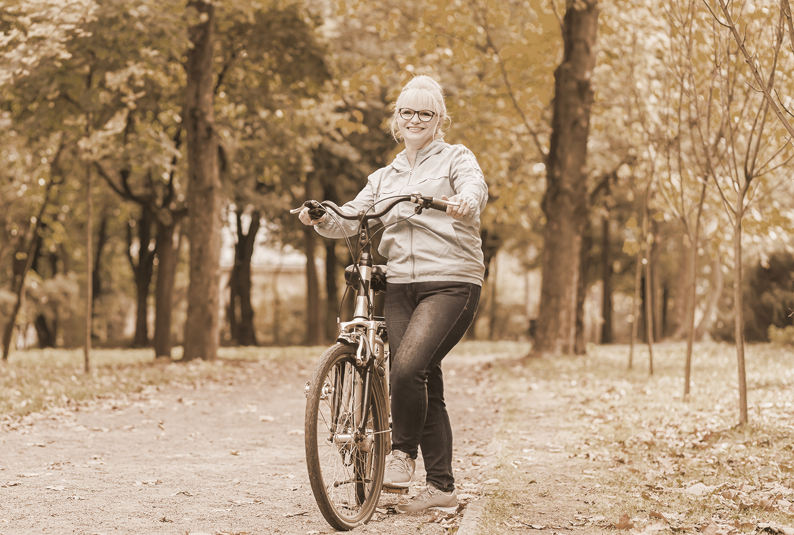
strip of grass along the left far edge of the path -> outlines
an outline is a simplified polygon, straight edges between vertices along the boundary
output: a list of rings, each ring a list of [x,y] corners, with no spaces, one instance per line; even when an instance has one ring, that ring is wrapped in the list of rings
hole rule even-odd
[[[157,362],[151,349],[94,349],[83,371],[82,349],[12,352],[0,364],[0,417],[19,418],[83,400],[140,392],[168,383],[198,384],[235,379],[245,363],[277,365],[316,359],[323,348],[221,348],[218,359]],[[181,348],[174,357],[181,358]]]

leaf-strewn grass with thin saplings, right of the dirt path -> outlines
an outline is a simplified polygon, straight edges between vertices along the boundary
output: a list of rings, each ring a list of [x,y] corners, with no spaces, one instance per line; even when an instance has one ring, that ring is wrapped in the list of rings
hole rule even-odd
[[[646,348],[635,352],[631,370],[627,355],[626,346],[593,346],[586,357],[505,360],[495,368],[495,383],[507,400],[497,433],[501,463],[492,474],[500,483],[488,498],[480,533],[503,533],[503,522],[515,514],[511,504],[530,503],[554,487],[534,481],[532,471],[520,466],[534,416],[528,401],[538,393],[565,408],[561,447],[569,466],[578,467],[574,477],[590,487],[575,506],[586,504],[587,515],[567,519],[584,524],[580,529],[617,524],[671,533],[713,522],[707,531],[728,533],[763,529],[761,522],[792,525],[792,349],[748,348],[750,421],[741,427],[732,346],[696,347],[688,401],[683,344],[654,348],[653,376]],[[584,470],[581,462],[587,463]]]

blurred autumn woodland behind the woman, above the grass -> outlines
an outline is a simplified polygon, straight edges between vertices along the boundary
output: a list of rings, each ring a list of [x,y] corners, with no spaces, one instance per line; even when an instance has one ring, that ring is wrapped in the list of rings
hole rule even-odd
[[[751,62],[719,0],[3,3],[5,354],[85,344],[88,295],[98,346],[333,341],[349,252],[288,210],[346,202],[391,162],[391,105],[420,74],[445,87],[445,139],[489,187],[469,339],[531,341],[566,317],[561,352],[794,340],[788,0],[731,4]],[[211,143],[194,158],[196,124]],[[218,254],[191,271],[205,243]],[[191,294],[196,272],[212,277]],[[186,331],[191,299],[206,329]]]

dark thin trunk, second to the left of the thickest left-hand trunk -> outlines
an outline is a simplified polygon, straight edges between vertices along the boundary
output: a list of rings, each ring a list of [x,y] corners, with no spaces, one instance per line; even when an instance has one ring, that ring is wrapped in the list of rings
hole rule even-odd
[[[133,338],[133,348],[145,348],[148,346],[148,294],[149,287],[152,285],[152,275],[154,273],[154,251],[149,250],[152,241],[152,224],[155,222],[155,214],[146,206],[141,206],[141,217],[136,222],[138,233],[138,259],[133,258],[129,248],[133,244],[132,229],[127,227],[127,256],[129,264],[133,268],[135,276],[136,302],[135,313],[135,337]]]

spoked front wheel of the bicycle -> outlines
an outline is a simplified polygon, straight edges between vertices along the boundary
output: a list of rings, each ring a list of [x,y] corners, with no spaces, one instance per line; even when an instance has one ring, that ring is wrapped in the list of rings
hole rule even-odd
[[[307,390],[306,468],[326,521],[347,531],[369,522],[380,500],[391,444],[383,379],[372,377],[367,436],[354,441],[363,383],[356,349],[335,344],[320,357]],[[356,415],[358,414],[358,418]]]

